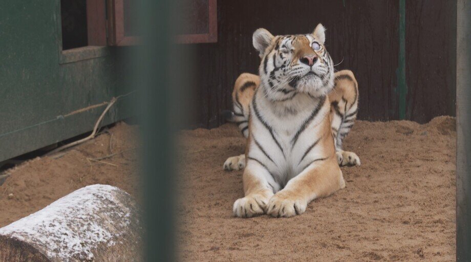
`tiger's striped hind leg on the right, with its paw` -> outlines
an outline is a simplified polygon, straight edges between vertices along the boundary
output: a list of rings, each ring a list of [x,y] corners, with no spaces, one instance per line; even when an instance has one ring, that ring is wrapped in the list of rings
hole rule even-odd
[[[361,165],[360,158],[342,149],[342,143],[352,128],[358,111],[358,83],[349,70],[335,74],[335,87],[329,94],[331,127],[335,142],[337,162],[340,166]]]

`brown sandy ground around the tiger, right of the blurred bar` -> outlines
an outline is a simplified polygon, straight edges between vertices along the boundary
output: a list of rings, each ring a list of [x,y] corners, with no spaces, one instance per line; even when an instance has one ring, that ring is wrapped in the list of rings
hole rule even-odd
[[[358,121],[345,147],[347,187],[289,219],[232,216],[244,151],[230,124],[184,132],[180,256],[187,261],[455,261],[455,119]]]

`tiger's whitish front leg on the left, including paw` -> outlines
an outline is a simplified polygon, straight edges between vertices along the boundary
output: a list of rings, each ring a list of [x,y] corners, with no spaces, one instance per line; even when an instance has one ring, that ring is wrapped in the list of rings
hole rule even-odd
[[[242,176],[245,197],[234,202],[234,216],[252,217],[265,213],[273,192],[280,186],[273,180],[268,170],[259,162],[248,159]]]

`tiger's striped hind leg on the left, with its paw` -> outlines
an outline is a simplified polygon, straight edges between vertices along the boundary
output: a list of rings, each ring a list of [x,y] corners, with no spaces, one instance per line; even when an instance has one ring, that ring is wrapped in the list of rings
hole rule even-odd
[[[255,89],[260,84],[260,77],[249,73],[241,74],[235,80],[232,91],[233,111],[225,110],[221,115],[228,121],[237,124],[242,135],[247,138],[249,135],[248,120],[250,113],[250,103]],[[245,167],[245,155],[229,157],[223,165],[224,170],[242,170]]]

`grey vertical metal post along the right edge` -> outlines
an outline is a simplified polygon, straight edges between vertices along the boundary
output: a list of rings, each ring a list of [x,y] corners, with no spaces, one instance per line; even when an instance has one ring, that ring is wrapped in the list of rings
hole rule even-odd
[[[471,261],[471,0],[458,0],[456,260]]]

